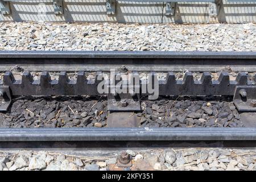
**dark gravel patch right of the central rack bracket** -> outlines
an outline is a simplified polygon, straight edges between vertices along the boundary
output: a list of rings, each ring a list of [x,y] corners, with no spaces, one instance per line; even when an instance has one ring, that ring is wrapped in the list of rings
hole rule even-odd
[[[243,127],[229,97],[177,97],[142,101],[141,127]]]

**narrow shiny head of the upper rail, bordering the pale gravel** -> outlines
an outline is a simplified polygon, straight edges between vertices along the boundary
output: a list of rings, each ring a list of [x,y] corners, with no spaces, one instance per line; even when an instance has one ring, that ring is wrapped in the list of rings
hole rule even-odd
[[[251,52],[205,51],[0,51],[2,58],[255,59]]]

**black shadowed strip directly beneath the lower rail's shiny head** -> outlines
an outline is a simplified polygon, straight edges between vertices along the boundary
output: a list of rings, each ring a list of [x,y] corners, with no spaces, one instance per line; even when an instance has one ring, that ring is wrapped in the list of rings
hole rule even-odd
[[[107,150],[108,148],[112,148],[114,150],[122,150],[122,148],[170,148],[170,147],[256,147],[255,141],[243,140],[226,140],[226,141],[89,141],[89,142],[0,142],[1,148],[9,148],[9,149],[37,149],[37,150],[45,150],[45,148],[51,150],[65,150],[64,148],[68,148],[68,150],[86,150],[86,149],[94,149],[98,150]]]

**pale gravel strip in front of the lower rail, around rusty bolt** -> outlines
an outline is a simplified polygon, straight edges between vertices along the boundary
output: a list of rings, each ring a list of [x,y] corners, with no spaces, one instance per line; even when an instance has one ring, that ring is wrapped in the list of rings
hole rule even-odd
[[[133,166],[121,170],[256,170],[256,150],[228,148],[167,148],[129,151]],[[49,151],[1,151],[0,171],[112,171],[117,170],[118,152],[104,156],[67,155]]]

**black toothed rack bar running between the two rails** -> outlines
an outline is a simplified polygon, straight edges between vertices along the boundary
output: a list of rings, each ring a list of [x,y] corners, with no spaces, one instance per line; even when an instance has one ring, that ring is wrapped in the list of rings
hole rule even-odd
[[[139,77],[133,72],[134,77]],[[0,80],[0,86],[9,86],[13,96],[31,95],[102,95],[97,90],[101,82],[102,72],[97,72],[95,81],[87,80],[85,72],[79,72],[76,79],[69,79],[66,72],[60,72],[59,78],[51,80],[48,72],[42,72],[38,80],[34,80],[30,72],[23,72],[21,80],[15,80],[13,73],[6,72]],[[256,77],[254,77],[256,78]],[[230,80],[227,72],[221,72],[217,80],[213,80],[209,72],[204,72],[200,80],[195,80],[191,72],[185,72],[183,80],[177,80],[174,72],[168,72],[165,80],[157,80],[156,73],[151,72],[148,81],[140,80],[139,87],[147,88],[151,80],[156,79],[159,95],[222,95],[233,96],[238,85],[255,85],[249,80],[247,73],[238,73],[236,80]],[[109,81],[110,82],[110,81]],[[146,86],[145,86],[146,85]],[[148,95],[148,90],[143,95]],[[110,93],[110,88],[109,88]],[[129,89],[127,87],[127,93]]]

